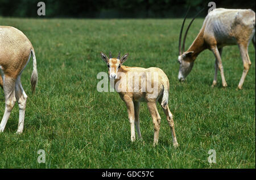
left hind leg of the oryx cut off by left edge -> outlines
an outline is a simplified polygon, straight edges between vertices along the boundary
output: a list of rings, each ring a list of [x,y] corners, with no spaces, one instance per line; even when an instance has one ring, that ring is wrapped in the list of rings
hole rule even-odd
[[[3,132],[5,129],[5,125],[11,114],[11,110],[13,110],[14,104],[16,102],[14,86],[15,79],[9,76],[5,76],[5,80],[3,82],[3,92],[5,93],[5,113],[3,114],[3,118],[0,124],[0,132]]]

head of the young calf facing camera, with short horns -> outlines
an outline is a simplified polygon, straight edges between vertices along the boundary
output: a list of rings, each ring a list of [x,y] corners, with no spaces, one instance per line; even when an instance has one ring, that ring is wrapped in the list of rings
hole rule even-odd
[[[120,52],[117,58],[112,58],[111,52],[109,52],[109,58],[106,56],[103,52],[101,52],[101,58],[106,62],[109,69],[109,78],[110,79],[116,79],[118,70],[120,69],[123,62],[127,60],[127,57],[129,56],[129,53],[122,56],[120,59]]]

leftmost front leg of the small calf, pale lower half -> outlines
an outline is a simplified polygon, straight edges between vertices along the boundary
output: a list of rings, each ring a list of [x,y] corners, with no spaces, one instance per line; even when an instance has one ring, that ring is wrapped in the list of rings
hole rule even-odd
[[[125,101],[127,106],[128,118],[131,125],[131,141],[133,142],[135,141],[135,127],[134,127],[135,116],[134,116],[133,99],[131,99],[128,95],[125,95],[123,97],[123,101]]]

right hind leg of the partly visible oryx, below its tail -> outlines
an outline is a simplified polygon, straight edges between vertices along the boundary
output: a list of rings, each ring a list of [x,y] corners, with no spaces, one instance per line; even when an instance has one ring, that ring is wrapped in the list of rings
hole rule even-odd
[[[16,133],[22,133],[24,128],[27,94],[23,90],[22,84],[20,82],[20,75],[16,79],[16,83],[15,83],[15,97],[19,105],[19,124],[18,124],[18,130]]]

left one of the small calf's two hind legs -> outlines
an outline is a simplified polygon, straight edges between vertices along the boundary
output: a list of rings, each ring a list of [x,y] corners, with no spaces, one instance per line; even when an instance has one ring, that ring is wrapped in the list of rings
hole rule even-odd
[[[154,124],[154,144],[153,145],[155,146],[158,144],[161,118],[158,113],[158,109],[156,108],[155,102],[148,102],[147,107],[148,107],[148,110],[150,111],[153,124]]]

